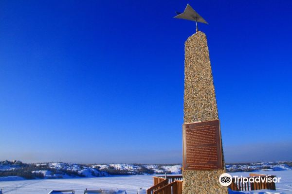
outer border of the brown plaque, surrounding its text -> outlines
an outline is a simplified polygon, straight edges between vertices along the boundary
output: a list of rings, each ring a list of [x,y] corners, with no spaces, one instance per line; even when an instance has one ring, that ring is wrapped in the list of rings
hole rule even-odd
[[[185,142],[185,133],[183,131],[183,126],[187,125],[187,124],[197,124],[197,123],[209,123],[209,122],[218,122],[218,136],[219,136],[219,146],[217,146],[217,149],[220,150],[219,155],[218,155],[218,160],[217,162],[219,163],[220,168],[213,168],[213,169],[185,169],[185,162],[186,162],[186,146],[184,144],[186,144]],[[184,123],[182,125],[182,134],[183,134],[183,171],[214,171],[214,170],[224,170],[223,167],[223,150],[222,150],[222,140],[221,140],[221,128],[220,128],[220,120],[216,119],[216,120],[211,120],[211,121],[199,121],[199,122],[193,122],[193,123]],[[218,145],[218,142],[217,142]]]

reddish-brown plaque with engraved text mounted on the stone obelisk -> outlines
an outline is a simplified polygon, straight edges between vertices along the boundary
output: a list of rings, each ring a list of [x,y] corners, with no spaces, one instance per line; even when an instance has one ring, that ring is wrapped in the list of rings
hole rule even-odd
[[[183,124],[183,170],[221,170],[219,120]]]

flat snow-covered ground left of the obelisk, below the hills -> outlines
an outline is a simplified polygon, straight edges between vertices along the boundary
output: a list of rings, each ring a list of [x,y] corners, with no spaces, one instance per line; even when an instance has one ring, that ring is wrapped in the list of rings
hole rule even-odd
[[[114,189],[126,190],[127,194],[137,194],[140,188],[152,186],[150,175],[105,176],[94,178],[37,179],[2,181],[0,188],[3,194],[47,194],[51,190],[74,190],[75,194],[83,194],[84,190]]]

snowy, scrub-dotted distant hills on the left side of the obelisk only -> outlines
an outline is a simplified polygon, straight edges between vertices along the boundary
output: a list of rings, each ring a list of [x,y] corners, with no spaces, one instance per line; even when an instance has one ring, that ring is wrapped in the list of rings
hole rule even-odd
[[[180,174],[181,164],[74,164],[45,162],[15,164],[0,162],[0,176],[35,178],[73,178],[114,175]]]

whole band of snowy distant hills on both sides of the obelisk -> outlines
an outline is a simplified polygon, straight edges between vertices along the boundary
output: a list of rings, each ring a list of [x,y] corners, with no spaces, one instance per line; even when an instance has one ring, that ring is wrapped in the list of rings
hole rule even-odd
[[[114,175],[181,174],[181,164],[74,164],[45,162],[26,164],[19,160],[0,161],[0,176],[26,179],[73,178]],[[292,170],[292,162],[255,162],[226,164],[227,172]]]

